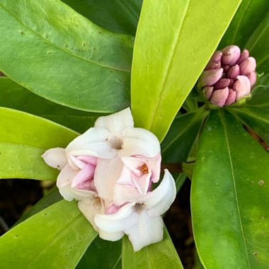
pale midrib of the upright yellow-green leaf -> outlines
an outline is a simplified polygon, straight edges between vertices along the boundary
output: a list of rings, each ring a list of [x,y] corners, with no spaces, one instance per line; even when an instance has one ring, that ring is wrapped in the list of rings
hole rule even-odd
[[[156,103],[156,106],[155,106],[155,109],[154,110],[152,110],[152,113],[151,113],[151,124],[149,125],[149,130],[151,130],[151,127],[152,127],[152,125],[154,124],[154,119],[155,119],[155,117],[156,117],[156,111],[158,111],[159,110],[159,106],[160,106],[160,103],[161,103],[161,96],[163,95],[163,92],[164,92],[164,86],[165,86],[165,84],[166,84],[166,80],[167,80],[167,77],[168,77],[168,74],[169,74],[169,72],[171,71],[171,68],[170,68],[170,66],[171,66],[171,62],[172,62],[172,60],[173,60],[173,57],[174,57],[174,55],[175,55],[175,52],[176,52],[176,47],[177,47],[177,44],[178,44],[178,40],[179,40],[179,37],[180,37],[180,35],[181,35],[181,30],[182,30],[182,28],[183,28],[183,25],[184,25],[184,23],[185,23],[185,19],[186,19],[186,15],[187,15],[187,13],[188,13],[188,10],[189,10],[189,7],[190,7],[190,1],[191,0],[188,0],[188,6],[185,8],[185,13],[184,13],[184,15],[183,15],[183,20],[182,20],[182,23],[181,23],[181,25],[180,25],[180,27],[178,28],[178,32],[176,33],[176,38],[175,38],[175,42],[174,42],[174,44],[173,44],[173,50],[171,51],[171,54],[170,54],[170,57],[169,57],[169,60],[168,60],[168,64],[167,64],[167,68],[165,69],[165,73],[164,73],[164,79],[163,79],[163,81],[162,81],[162,83],[161,83],[161,91],[160,91],[160,93],[159,93],[159,98],[158,98],[158,101],[157,101],[157,103]]]

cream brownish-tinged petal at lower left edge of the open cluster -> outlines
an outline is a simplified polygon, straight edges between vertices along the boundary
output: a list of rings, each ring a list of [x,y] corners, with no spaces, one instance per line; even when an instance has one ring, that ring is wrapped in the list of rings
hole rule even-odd
[[[96,193],[92,193],[88,199],[80,200],[78,202],[78,207],[81,213],[88,219],[88,222],[90,222],[93,228],[98,231],[98,227],[94,222],[94,217],[96,214],[103,214],[105,212],[105,207],[103,207],[101,199],[98,198]]]

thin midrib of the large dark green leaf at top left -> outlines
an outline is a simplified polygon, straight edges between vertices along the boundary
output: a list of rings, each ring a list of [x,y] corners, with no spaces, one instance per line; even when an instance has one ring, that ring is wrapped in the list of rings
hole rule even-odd
[[[2,6],[0,4],[0,7],[6,12],[8,13],[11,17],[13,17],[16,21],[18,21],[18,23],[21,23],[21,25],[23,25],[24,28],[26,28],[29,32],[37,35],[41,40],[43,40],[44,42],[46,42],[47,44],[51,45],[52,47],[56,47],[58,50],[62,50],[63,52],[67,52],[69,55],[72,55],[76,58],[79,58],[79,59],[82,59],[86,62],[91,62],[92,64],[97,64],[101,67],[104,67],[104,68],[108,68],[108,69],[115,69],[115,70],[118,70],[118,71],[125,71],[125,72],[130,72],[130,70],[128,69],[121,69],[121,68],[118,68],[118,67],[110,67],[108,65],[105,65],[105,64],[101,64],[99,62],[95,62],[93,60],[90,60],[90,59],[86,59],[84,57],[81,57],[80,55],[75,55],[73,52],[69,51],[69,50],[64,50],[63,47],[59,47],[58,45],[55,45],[53,44],[52,42],[50,42],[49,40],[45,40],[45,38],[43,38],[41,35],[39,35],[38,33],[36,33],[33,29],[29,28],[27,25],[25,25],[22,21],[20,21],[18,18],[16,18],[15,16],[13,16],[13,14],[11,14],[6,8],[4,8],[4,6]]]

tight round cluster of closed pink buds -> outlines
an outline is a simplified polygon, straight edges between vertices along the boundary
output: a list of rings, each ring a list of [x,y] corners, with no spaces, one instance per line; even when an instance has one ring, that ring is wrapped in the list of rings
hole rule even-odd
[[[212,105],[232,105],[249,96],[256,83],[256,60],[248,50],[230,45],[216,51],[200,77],[200,86]]]

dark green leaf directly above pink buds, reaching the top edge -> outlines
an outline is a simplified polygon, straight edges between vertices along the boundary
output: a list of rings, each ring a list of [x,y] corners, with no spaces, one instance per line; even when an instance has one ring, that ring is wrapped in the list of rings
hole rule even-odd
[[[238,45],[243,48],[248,38],[263,21],[268,8],[267,0],[242,0],[227,32],[219,43],[219,49],[227,45]]]

